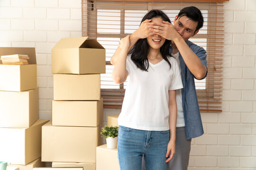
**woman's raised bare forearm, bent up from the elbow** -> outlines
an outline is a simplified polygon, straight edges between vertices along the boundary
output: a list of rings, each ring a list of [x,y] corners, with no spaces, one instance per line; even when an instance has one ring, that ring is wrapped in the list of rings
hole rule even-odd
[[[126,36],[125,38],[122,38],[119,42],[119,46],[121,48],[119,59],[116,62],[116,65],[112,72],[112,79],[116,84],[122,84],[125,82],[128,71],[126,70],[126,58],[128,53],[128,48],[130,46],[130,35]]]

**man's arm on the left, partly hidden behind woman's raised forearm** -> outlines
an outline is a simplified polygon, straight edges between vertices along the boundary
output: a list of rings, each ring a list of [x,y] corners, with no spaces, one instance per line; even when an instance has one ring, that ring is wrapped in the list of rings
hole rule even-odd
[[[151,20],[152,19],[146,19],[141,23],[139,28],[130,35],[130,47],[129,51],[131,48],[134,46],[134,44],[140,39],[140,38],[147,38],[150,35],[153,34],[152,31],[150,31],[148,28],[151,25]],[[110,58],[110,63],[112,65],[115,65],[117,63],[117,59],[119,58],[121,48],[118,46],[117,50],[115,51],[114,55]]]

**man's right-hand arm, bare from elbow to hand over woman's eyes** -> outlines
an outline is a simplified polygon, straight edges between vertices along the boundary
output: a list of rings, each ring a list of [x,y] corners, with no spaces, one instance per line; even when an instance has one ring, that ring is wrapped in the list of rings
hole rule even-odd
[[[178,48],[183,60],[191,73],[197,78],[203,78],[207,73],[207,68],[202,64],[197,55],[189,48],[187,43],[183,40],[182,36],[175,30],[174,26],[166,21],[163,24],[152,23],[151,28],[154,32],[163,36],[165,39],[172,40]]]

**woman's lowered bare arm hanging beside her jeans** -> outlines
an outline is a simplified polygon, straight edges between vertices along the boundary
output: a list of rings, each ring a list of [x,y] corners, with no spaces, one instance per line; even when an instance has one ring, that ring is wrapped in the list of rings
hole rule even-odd
[[[168,162],[174,157],[175,153],[175,140],[176,140],[176,120],[177,120],[177,104],[176,104],[176,91],[169,90],[169,126],[170,126],[170,141],[167,145],[165,161]],[[170,154],[171,153],[171,154]]]

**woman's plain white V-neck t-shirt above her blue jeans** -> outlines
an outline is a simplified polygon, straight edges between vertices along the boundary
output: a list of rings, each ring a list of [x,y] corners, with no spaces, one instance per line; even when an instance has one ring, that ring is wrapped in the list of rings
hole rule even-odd
[[[127,56],[127,87],[118,118],[121,126],[140,130],[169,129],[169,90],[183,88],[179,64],[173,57],[157,64],[149,62],[147,71],[137,68]]]

